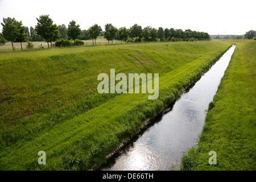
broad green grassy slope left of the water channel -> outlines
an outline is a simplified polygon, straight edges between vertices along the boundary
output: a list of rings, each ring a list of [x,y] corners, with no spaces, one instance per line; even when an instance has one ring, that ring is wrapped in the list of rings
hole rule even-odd
[[[0,169],[88,169],[174,100],[229,43],[145,43],[0,54]],[[99,94],[99,73],[159,73],[148,94]],[[46,165],[38,152],[46,152]]]

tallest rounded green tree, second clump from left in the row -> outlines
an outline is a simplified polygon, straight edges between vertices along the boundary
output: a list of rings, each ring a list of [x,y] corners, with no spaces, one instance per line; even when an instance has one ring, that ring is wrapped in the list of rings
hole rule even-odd
[[[56,24],[53,24],[49,15],[40,15],[38,23],[35,26],[36,34],[42,36],[42,38],[47,40],[48,48],[49,48],[49,41],[52,41],[56,38],[56,32],[59,31],[59,28]]]

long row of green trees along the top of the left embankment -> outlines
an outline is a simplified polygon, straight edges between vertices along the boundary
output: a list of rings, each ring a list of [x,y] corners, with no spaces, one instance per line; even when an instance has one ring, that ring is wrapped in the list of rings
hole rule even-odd
[[[1,37],[10,41],[12,46],[13,42],[20,42],[22,47],[22,42],[25,41],[46,41],[49,48],[49,43],[52,46],[52,42],[58,39],[72,39],[74,44],[76,44],[76,39],[88,40],[92,39],[93,44],[96,44],[96,39],[98,36],[104,36],[109,42],[113,43],[114,39],[126,41],[126,42],[154,42],[158,39],[160,41],[193,41],[193,40],[210,40],[210,35],[207,32],[198,32],[174,28],[162,28],[158,29],[151,26],[142,28],[138,24],[134,24],[130,28],[114,27],[111,23],[105,25],[105,30],[102,31],[101,26],[94,24],[89,27],[88,30],[81,30],[79,24],[74,20],[69,22],[68,27],[65,24],[57,26],[53,24],[53,20],[49,18],[49,15],[40,15],[36,18],[38,23],[35,28],[24,27],[22,21],[17,21],[15,18],[3,18],[3,29]],[[14,49],[14,47],[13,47]]]

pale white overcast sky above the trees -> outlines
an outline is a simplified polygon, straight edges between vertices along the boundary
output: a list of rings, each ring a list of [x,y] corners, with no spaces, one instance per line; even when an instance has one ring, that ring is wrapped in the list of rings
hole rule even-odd
[[[256,30],[255,0],[0,0],[0,22],[8,16],[22,20],[23,26],[35,27],[40,15],[53,23],[68,26],[75,20],[82,30],[97,23],[130,28],[142,27],[191,29],[210,35],[242,35]],[[2,26],[0,25],[2,31]]]

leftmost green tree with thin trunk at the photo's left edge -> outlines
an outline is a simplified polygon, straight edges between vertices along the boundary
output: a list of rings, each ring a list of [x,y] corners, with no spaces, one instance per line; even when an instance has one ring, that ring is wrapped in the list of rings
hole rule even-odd
[[[2,34],[3,37],[6,40],[11,41],[11,46],[13,46],[13,42],[16,39],[16,36],[18,34],[18,22],[15,20],[15,18],[3,18],[3,23],[1,23],[3,26]],[[14,47],[13,47],[14,51]]]

